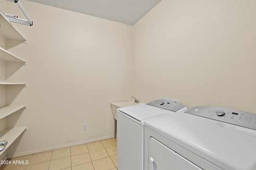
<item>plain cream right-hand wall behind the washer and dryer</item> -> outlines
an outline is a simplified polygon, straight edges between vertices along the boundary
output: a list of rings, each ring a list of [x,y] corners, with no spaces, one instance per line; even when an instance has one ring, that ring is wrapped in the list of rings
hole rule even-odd
[[[134,95],[256,113],[256,1],[162,0],[134,25]]]

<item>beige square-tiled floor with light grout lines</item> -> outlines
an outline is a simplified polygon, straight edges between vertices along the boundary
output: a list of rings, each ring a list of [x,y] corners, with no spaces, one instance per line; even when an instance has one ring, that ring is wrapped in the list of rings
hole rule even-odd
[[[0,170],[117,170],[116,139],[13,158]],[[26,164],[28,161],[28,164]]]

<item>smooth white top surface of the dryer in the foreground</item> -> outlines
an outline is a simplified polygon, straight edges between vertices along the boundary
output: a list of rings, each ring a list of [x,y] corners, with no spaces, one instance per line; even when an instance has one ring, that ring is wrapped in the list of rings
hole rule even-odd
[[[145,126],[222,169],[256,170],[255,130],[187,113],[156,117]]]

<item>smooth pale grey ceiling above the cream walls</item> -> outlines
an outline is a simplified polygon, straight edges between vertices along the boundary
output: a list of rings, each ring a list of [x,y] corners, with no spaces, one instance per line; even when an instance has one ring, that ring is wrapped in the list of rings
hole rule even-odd
[[[29,0],[90,16],[134,25],[161,0]]]

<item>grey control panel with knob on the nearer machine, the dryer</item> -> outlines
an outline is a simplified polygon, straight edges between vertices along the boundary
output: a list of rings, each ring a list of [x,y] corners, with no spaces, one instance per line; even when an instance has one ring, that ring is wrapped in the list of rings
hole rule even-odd
[[[256,114],[235,109],[214,106],[196,106],[184,111],[217,121],[230,123],[256,130]]]

